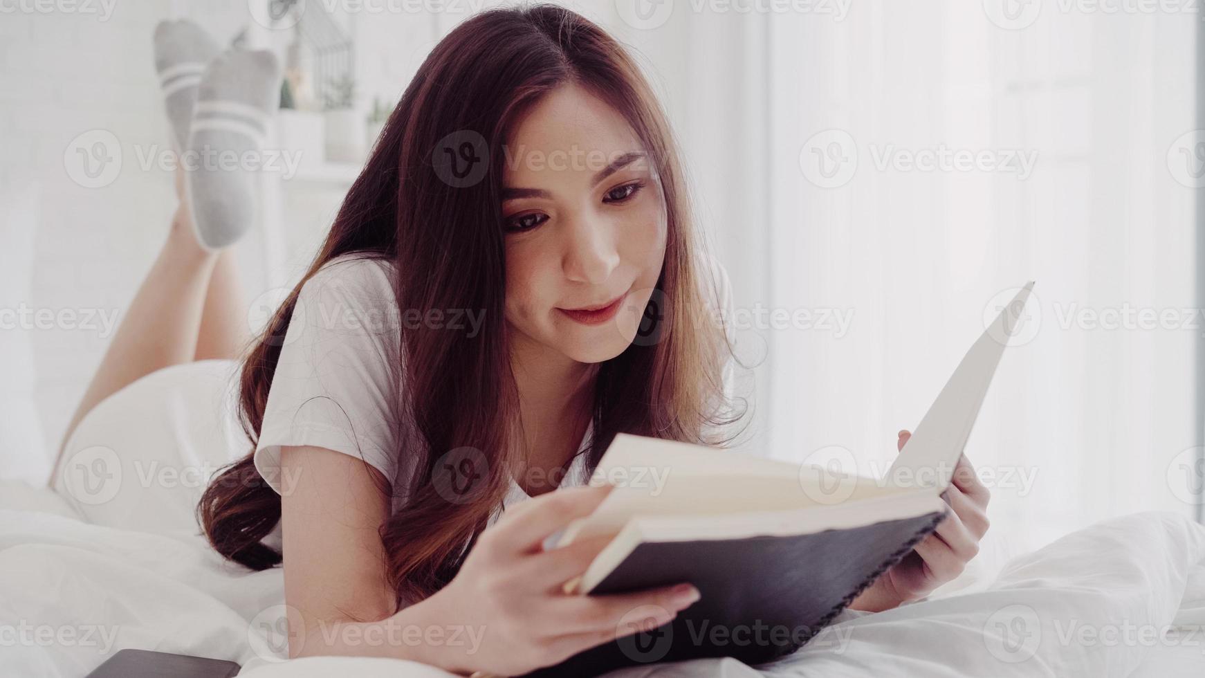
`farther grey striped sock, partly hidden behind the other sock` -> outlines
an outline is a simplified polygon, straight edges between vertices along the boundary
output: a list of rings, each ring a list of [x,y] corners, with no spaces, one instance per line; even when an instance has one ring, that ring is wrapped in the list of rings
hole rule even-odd
[[[186,148],[201,72],[218,54],[218,45],[189,20],[159,22],[154,26],[154,67],[159,72],[167,120],[176,148]]]

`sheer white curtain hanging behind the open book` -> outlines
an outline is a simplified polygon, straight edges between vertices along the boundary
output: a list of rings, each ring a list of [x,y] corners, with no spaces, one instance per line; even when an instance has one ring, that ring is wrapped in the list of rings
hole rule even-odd
[[[1183,164],[1201,159],[1181,137],[1200,18],[1005,6],[768,22],[768,305],[853,317],[770,334],[768,447],[840,446],[881,471],[984,314],[1035,279],[966,450],[997,523],[1031,546],[1118,513],[1191,514],[1205,326]]]

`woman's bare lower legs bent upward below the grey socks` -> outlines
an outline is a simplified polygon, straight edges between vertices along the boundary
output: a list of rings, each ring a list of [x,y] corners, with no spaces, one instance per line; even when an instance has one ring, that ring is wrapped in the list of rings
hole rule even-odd
[[[183,195],[182,181],[182,171],[178,171],[177,195]],[[198,337],[202,334],[207,337],[206,352],[211,350],[211,346],[222,343],[210,338],[207,328],[202,330],[205,308],[210,306],[206,303],[207,294],[221,294],[225,289],[224,282],[217,290],[211,289],[210,284],[219,253],[207,252],[198,244],[188,214],[188,205],[181,199],[159,257],[134,295],[105,358],[67,424],[51,471],[51,487],[58,474],[63,448],[80,420],[96,403],[151,372],[192,362],[201,347]],[[230,307],[218,300],[212,306],[214,313]]]

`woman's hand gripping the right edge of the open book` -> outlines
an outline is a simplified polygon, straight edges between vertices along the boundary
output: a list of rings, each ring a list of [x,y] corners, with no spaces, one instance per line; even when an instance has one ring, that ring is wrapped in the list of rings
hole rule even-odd
[[[912,434],[900,431],[899,450],[904,452]],[[980,540],[987,533],[987,503],[991,493],[966,455],[958,458],[950,488],[941,499],[950,505],[946,519],[937,530],[922,540],[862,595],[850,605],[853,609],[882,612],[909,601],[922,599],[937,586],[963,573],[966,564],[978,553]]]

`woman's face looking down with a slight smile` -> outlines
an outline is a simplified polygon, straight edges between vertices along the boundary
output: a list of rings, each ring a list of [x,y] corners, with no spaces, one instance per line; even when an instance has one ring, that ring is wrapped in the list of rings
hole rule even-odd
[[[506,320],[578,362],[631,343],[665,259],[652,163],[610,106],[563,86],[519,122],[502,158]]]

